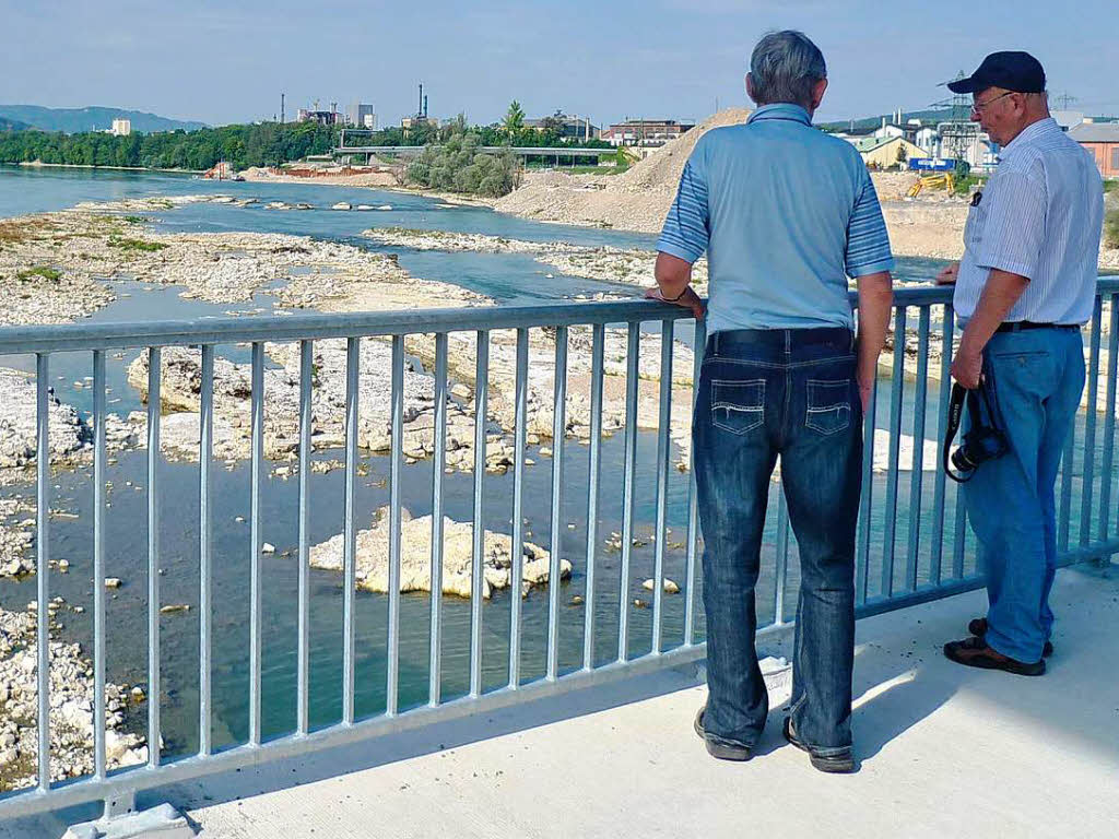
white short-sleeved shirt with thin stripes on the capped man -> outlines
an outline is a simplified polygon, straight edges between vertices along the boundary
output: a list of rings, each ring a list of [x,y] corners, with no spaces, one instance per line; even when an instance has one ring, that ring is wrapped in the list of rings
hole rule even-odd
[[[975,313],[990,268],[1029,285],[1007,321],[1085,323],[1092,317],[1103,226],[1103,181],[1092,157],[1053,119],[1026,126],[972,202],[953,305]]]

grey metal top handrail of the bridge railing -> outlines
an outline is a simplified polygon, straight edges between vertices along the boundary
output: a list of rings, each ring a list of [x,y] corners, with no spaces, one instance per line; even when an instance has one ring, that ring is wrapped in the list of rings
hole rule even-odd
[[[1119,276],[1101,276],[1098,293],[1119,292]],[[852,305],[858,294],[849,292]],[[951,286],[895,285],[894,305],[949,303]],[[684,320],[692,314],[649,300],[564,301],[533,305],[455,307],[399,311],[289,314],[198,320],[120,321],[0,327],[0,355],[167,347],[241,341],[299,341],[459,332],[528,327],[593,326],[637,320]]]

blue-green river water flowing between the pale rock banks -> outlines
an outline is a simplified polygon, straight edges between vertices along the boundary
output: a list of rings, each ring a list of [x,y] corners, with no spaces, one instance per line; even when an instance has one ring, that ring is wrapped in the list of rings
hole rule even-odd
[[[342,213],[329,209],[311,211],[273,211],[254,206],[246,208],[226,205],[191,205],[176,210],[151,214],[160,227],[171,230],[250,230],[311,235],[323,239],[351,243],[358,247],[379,249],[360,237],[360,232],[373,226],[424,227],[441,230],[485,233],[532,241],[563,239],[587,245],[651,248],[655,237],[582,227],[542,225],[496,214],[479,207],[445,207],[435,199],[387,191],[316,187],[303,185],[213,183],[188,177],[164,173],[93,172],[90,170],[25,170],[0,168],[0,217],[31,211],[60,209],[82,200],[113,200],[126,197],[157,195],[188,195],[222,192],[238,197],[255,197],[262,201],[308,201],[318,207],[329,207],[338,200],[354,204],[392,205],[392,210]],[[634,295],[640,290],[628,285],[601,283],[592,280],[555,275],[545,276],[546,270],[523,254],[422,253],[407,248],[391,248],[399,254],[401,264],[414,275],[444,282],[491,295],[499,303],[558,300],[579,292],[622,290]],[[904,280],[932,276],[943,264],[932,260],[900,260],[899,275]],[[555,272],[551,272],[555,273]],[[145,320],[150,318],[201,318],[223,313],[231,307],[214,307],[199,301],[182,300],[177,290],[142,291],[135,283],[123,283],[117,302],[97,312],[91,320]],[[272,299],[263,292],[251,304],[235,307],[270,310]],[[242,360],[244,349],[222,347],[219,352]],[[139,395],[124,380],[124,369],[134,353],[109,364],[110,408],[126,413],[141,407]],[[30,359],[3,359],[4,366],[34,369]],[[54,385],[59,396],[88,409],[88,389],[75,388],[74,381],[91,375],[88,353],[64,353],[51,359]],[[902,428],[912,433],[912,383],[906,384],[906,399],[902,411]],[[933,440],[938,433],[939,403],[937,388],[930,386],[927,405],[925,437]],[[113,402],[119,399],[120,402]],[[888,387],[882,387],[877,400],[877,426],[887,427],[890,416]],[[1081,430],[1081,433],[1082,430]],[[1097,434],[1097,462],[1102,447],[1102,433]],[[575,595],[585,596],[586,585],[586,506],[587,506],[587,449],[576,442],[565,443],[567,453],[563,475],[564,499],[560,534],[563,555],[575,565],[573,577],[562,584],[561,603],[561,670],[582,664],[583,621],[585,605],[572,604]],[[317,453],[319,458],[338,458],[338,451]],[[537,465],[526,471],[525,515],[533,541],[551,544],[548,511],[552,508],[551,481],[553,461],[540,456],[534,449],[529,456]],[[388,462],[385,458],[363,459],[369,475],[358,481],[358,524],[367,526],[372,511],[387,503],[386,478]],[[674,458],[675,460],[675,458]],[[1073,541],[1079,534],[1076,505],[1081,499],[1078,483],[1082,469],[1078,459],[1073,477]],[[651,602],[651,593],[640,587],[642,579],[652,575],[653,547],[649,543],[634,548],[630,578],[620,579],[620,556],[608,550],[604,540],[612,531],[621,529],[621,480],[623,466],[622,437],[604,441],[602,454],[602,487],[599,511],[599,544],[593,553],[598,569],[595,620],[598,641],[596,661],[617,656],[618,615],[626,604],[630,621],[629,654],[647,652],[651,643],[651,609],[633,605],[634,598]],[[124,585],[109,600],[109,676],[115,681],[143,684],[147,668],[147,455],[143,452],[125,453],[109,468],[113,482],[107,511],[106,574],[119,576]],[[1097,470],[1097,498],[1102,480]],[[656,439],[639,434],[636,483],[636,532],[647,536],[655,520]],[[923,522],[918,552],[918,578],[928,579],[932,553],[932,492],[935,472],[922,474],[918,493],[923,511]],[[62,518],[51,524],[51,555],[70,562],[66,575],[54,573],[50,578],[51,596],[60,594],[72,605],[83,605],[82,615],[68,610],[59,612],[65,624],[64,634],[79,640],[90,649],[92,637],[92,505],[90,470],[59,474],[55,479],[51,506],[79,513],[77,519]],[[899,562],[895,567],[895,587],[904,582],[904,556],[909,539],[909,508],[911,473],[903,473],[899,482],[896,508],[896,546]],[[1108,477],[1110,480],[1110,475]],[[162,667],[164,696],[161,698],[164,720],[167,754],[186,754],[197,745],[198,699],[192,689],[197,684],[197,626],[198,626],[198,480],[197,466],[190,464],[160,464],[161,493],[161,564],[162,602],[189,603],[195,609],[186,614],[162,619]],[[227,745],[242,742],[247,736],[247,579],[250,545],[248,529],[235,521],[236,516],[248,515],[248,470],[244,463],[232,470],[214,470],[214,522],[216,560],[214,564],[214,710],[215,743]],[[420,462],[404,469],[402,491],[404,505],[415,516],[431,510],[432,466]],[[132,486],[129,486],[129,482]],[[489,529],[509,532],[511,516],[511,475],[486,478],[486,525]],[[311,544],[340,532],[342,528],[344,474],[312,474],[310,479]],[[472,477],[445,477],[446,513],[454,519],[469,520],[472,511]],[[34,484],[6,490],[34,499]],[[668,527],[671,529],[666,552],[666,575],[687,588],[685,552],[675,546],[684,541],[687,522],[688,475],[676,470],[669,472]],[[771,510],[777,508],[779,489],[773,487]],[[883,553],[884,524],[887,506],[884,503],[886,482],[884,475],[874,478],[872,512],[872,563],[869,569],[873,595],[878,591],[881,556]],[[1115,497],[1115,496],[1113,496]],[[264,568],[264,726],[269,736],[290,732],[294,727],[295,592],[298,564],[297,509],[298,481],[270,480],[262,498],[264,538],[276,546],[274,556],[263,557]],[[949,575],[950,546],[955,529],[955,486],[948,487],[946,527],[942,545],[946,548],[946,576]],[[764,566],[759,583],[759,618],[764,623],[773,618],[773,597],[777,581],[770,571],[777,553],[777,528],[771,517],[763,552]],[[568,525],[571,527],[568,527]],[[970,543],[969,543],[970,545]],[[796,541],[790,543],[791,563],[787,581],[786,616],[794,610]],[[974,550],[967,552],[965,571],[974,567]],[[22,582],[0,583],[0,604],[22,609],[35,598],[34,577]],[[671,647],[683,639],[685,594],[665,597],[665,644]],[[358,594],[356,597],[357,631],[357,709],[359,716],[376,714],[385,706],[385,635],[387,598],[382,595]],[[485,604],[482,663],[487,689],[506,681],[508,669],[508,625],[510,598],[498,593]],[[426,595],[406,595],[401,611],[401,694],[402,707],[423,704],[427,698],[427,640],[430,598]],[[443,613],[443,698],[466,692],[469,666],[469,602],[444,597]],[[702,609],[698,610],[697,638],[704,637]],[[547,592],[532,592],[524,602],[523,677],[538,678],[544,672],[546,654]],[[314,726],[336,722],[341,713],[341,579],[327,572],[311,572],[311,719]]]

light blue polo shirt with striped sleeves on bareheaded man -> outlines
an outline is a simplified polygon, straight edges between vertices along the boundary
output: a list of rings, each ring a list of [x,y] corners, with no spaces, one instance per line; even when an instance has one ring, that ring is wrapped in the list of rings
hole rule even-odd
[[[657,249],[707,252],[707,331],[853,328],[847,277],[894,266],[866,166],[793,104],[699,138]]]

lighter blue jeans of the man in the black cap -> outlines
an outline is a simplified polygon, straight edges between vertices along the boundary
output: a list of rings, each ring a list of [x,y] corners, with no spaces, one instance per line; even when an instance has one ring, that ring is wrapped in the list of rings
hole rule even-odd
[[[963,484],[987,574],[987,643],[1018,661],[1041,659],[1053,629],[1056,569],[1053,487],[1084,388],[1079,329],[996,332],[984,350],[1010,451]]]

